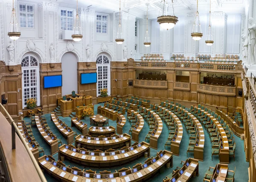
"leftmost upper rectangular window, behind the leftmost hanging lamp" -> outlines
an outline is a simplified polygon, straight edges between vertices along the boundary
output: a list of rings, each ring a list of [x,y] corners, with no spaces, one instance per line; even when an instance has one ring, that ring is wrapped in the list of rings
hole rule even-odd
[[[20,4],[20,27],[34,28],[34,6]]]

